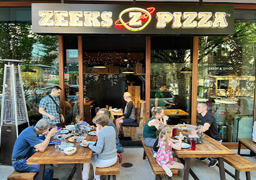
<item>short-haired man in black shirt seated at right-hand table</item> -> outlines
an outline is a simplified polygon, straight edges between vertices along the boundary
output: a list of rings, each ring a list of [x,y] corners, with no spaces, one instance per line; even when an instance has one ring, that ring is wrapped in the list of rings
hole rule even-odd
[[[218,128],[217,128],[217,123],[214,118],[214,116],[207,112],[207,103],[204,101],[201,101],[198,103],[198,113],[201,114],[201,124],[203,125],[202,131],[216,140],[217,142],[221,143],[222,140],[220,139]],[[205,161],[207,158],[200,158],[201,161]],[[211,161],[209,163],[209,167],[214,167],[217,164],[217,158],[211,158]]]

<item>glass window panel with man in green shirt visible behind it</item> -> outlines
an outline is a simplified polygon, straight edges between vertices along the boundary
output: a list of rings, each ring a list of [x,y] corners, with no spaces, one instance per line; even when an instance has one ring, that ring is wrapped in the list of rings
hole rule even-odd
[[[176,109],[186,113],[180,116],[176,113],[169,115],[168,124],[189,123],[190,112],[190,85],[192,84],[192,58],[190,49],[182,44],[190,44],[190,38],[179,40],[166,37],[166,42],[162,41],[157,48],[156,42],[159,38],[152,38],[154,44],[151,50],[151,92],[150,106],[163,107],[163,109]],[[172,40],[171,40],[172,39]],[[163,45],[166,46],[164,47]],[[175,46],[175,44],[177,46]],[[179,45],[180,44],[180,47]],[[189,46],[190,47],[190,46]],[[182,49],[184,48],[184,49]]]

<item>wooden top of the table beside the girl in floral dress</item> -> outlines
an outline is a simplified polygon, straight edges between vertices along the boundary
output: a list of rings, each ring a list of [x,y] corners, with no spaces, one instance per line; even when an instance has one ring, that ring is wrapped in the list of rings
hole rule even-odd
[[[192,151],[191,148],[181,149],[177,151],[173,149],[175,154],[179,158],[201,158],[201,157],[224,157],[225,155],[232,155],[235,152],[229,150],[216,140],[212,139],[211,137],[205,134],[203,143],[201,145],[196,145],[196,150]]]

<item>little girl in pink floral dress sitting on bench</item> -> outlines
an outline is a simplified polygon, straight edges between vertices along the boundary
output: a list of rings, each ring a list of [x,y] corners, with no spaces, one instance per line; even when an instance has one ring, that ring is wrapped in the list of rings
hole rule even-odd
[[[179,145],[176,146],[173,144],[172,140],[172,128],[169,125],[165,125],[159,134],[157,151],[157,163],[163,167],[167,176],[172,176],[172,171],[170,169],[183,169],[184,166],[182,163],[178,163],[176,158],[172,156],[172,148],[176,150],[181,149],[181,143],[183,139],[183,134],[180,133],[179,136]]]

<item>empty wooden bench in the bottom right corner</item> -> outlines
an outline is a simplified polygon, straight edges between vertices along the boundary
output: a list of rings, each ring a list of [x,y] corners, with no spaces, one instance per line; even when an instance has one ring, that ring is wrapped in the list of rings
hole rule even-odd
[[[230,166],[234,167],[236,169],[235,175],[233,175],[231,172],[228,172],[228,170],[225,170],[229,175],[233,176],[234,179],[239,179],[239,173],[245,172],[246,180],[251,179],[250,172],[256,170],[256,164],[252,163],[252,161],[249,161],[248,159],[242,157],[239,154],[234,155],[227,155],[224,157],[225,163],[229,164]]]

